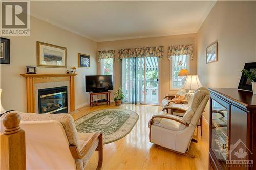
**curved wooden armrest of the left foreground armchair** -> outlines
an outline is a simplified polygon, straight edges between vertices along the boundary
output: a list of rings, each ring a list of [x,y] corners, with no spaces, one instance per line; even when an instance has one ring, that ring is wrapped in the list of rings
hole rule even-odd
[[[102,142],[102,140],[100,140],[100,138],[102,138],[102,133],[95,132],[95,134],[91,137],[91,139],[89,139],[87,144],[84,145],[84,147],[80,151],[78,150],[76,145],[70,145],[69,150],[70,150],[73,158],[74,159],[82,159],[84,156],[86,156],[86,154],[88,153],[88,151],[90,150],[90,148],[92,147],[92,145],[96,142],[96,140],[98,138],[99,138],[99,145],[100,145],[100,142]]]

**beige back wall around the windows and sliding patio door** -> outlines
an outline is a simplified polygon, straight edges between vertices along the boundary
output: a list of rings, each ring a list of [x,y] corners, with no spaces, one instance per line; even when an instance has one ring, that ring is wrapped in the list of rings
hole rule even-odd
[[[162,36],[153,38],[140,38],[140,39],[130,39],[130,40],[119,40],[119,41],[108,41],[108,42],[98,42],[97,50],[116,50],[116,61],[115,61],[115,89],[120,86],[120,63],[117,60],[118,49],[121,48],[136,48],[136,47],[147,47],[147,46],[164,46],[164,57],[160,60],[160,71],[159,71],[159,82],[160,82],[160,101],[167,94],[175,94],[176,91],[170,90],[170,62],[167,58],[168,46],[169,45],[183,45],[192,44],[193,45],[193,61],[191,64],[191,73],[196,74],[197,72],[197,43],[196,34],[184,34],[175,36]],[[98,74],[100,74],[100,67],[98,64]]]

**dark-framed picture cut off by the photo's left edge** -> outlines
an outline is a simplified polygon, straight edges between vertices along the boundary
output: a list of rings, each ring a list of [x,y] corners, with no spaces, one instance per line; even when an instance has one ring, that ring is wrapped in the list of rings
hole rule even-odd
[[[0,63],[10,64],[10,40],[0,38]]]

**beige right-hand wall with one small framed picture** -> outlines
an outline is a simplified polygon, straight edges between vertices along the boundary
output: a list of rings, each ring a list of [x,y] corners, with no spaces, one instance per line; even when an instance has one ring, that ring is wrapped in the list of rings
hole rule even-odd
[[[218,1],[197,33],[197,72],[206,87],[237,88],[246,62],[256,62],[256,2]],[[206,47],[218,40],[218,62],[206,64]],[[209,119],[209,107],[204,114]]]

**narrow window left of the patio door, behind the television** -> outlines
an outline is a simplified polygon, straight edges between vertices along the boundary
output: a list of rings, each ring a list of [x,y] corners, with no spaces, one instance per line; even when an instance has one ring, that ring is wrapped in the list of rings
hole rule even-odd
[[[112,75],[113,86],[114,86],[114,59],[103,58],[100,60],[101,75]]]

